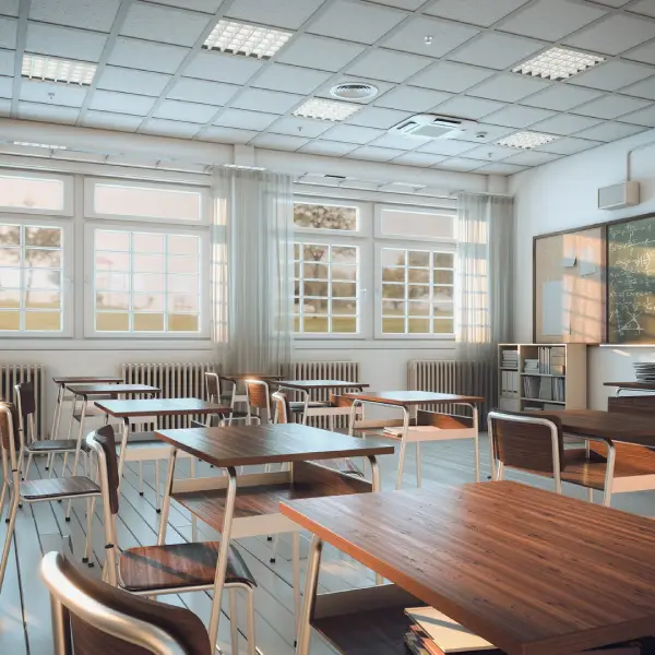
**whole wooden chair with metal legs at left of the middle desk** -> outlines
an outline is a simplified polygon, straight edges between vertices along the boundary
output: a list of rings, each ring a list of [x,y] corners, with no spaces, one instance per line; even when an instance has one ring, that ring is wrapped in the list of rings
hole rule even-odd
[[[212,591],[218,560],[218,541],[139,546],[122,552],[119,551],[116,533],[119,477],[114,428],[111,426],[102,427],[92,432],[86,438],[86,442],[90,449],[97,454],[103,491],[103,522],[107,555],[103,579],[114,586],[143,596]],[[225,588],[229,592],[230,635],[234,653],[238,653],[236,592],[243,591],[248,607],[248,650],[250,655],[255,654],[253,599],[255,586],[257,583],[246,562],[237,550],[230,548],[227,556]],[[213,603],[219,604],[221,598],[214,595]]]

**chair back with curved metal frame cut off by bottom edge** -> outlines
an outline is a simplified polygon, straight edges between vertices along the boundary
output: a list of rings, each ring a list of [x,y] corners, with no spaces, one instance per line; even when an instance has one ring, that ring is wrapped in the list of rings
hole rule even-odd
[[[154,603],[84,575],[59,552],[40,565],[50,592],[55,655],[212,655],[190,610]]]

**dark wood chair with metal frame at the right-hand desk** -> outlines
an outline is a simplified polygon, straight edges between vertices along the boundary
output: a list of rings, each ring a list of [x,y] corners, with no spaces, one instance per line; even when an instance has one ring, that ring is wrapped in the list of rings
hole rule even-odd
[[[643,457],[624,456],[623,444],[596,437],[585,437],[586,448],[564,449],[560,420],[546,413],[493,410],[488,426],[495,479],[502,479],[505,467],[514,468],[552,478],[558,493],[562,481],[585,487],[590,500],[594,489],[603,491],[606,507],[612,493],[655,488],[655,457],[646,449]]]

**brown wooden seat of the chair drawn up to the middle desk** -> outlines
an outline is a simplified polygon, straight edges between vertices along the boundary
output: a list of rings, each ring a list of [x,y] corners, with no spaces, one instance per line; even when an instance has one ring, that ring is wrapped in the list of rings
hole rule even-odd
[[[123,550],[119,560],[122,586],[130,592],[211,586],[216,575],[218,541],[142,546]],[[241,556],[229,549],[225,582],[254,587]]]

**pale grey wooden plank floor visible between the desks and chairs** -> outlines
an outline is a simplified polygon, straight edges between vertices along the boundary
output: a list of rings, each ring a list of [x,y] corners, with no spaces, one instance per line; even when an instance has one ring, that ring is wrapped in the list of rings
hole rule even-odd
[[[422,451],[422,484],[429,488],[436,481],[446,484],[463,484],[474,480],[473,446],[467,441],[443,443],[426,443]],[[480,443],[483,476],[489,473],[489,456],[487,440]],[[43,475],[45,460],[40,458],[33,467],[31,477]],[[380,457],[383,489],[394,487],[396,457]],[[162,467],[164,468],[164,463]],[[184,462],[180,468],[187,466]],[[38,471],[38,473],[37,473]],[[163,469],[162,469],[163,471]],[[139,477],[133,465],[126,473],[123,495],[118,520],[118,537],[122,548],[135,545],[152,545],[157,538],[157,519],[154,498],[154,465],[144,466],[145,492],[139,495]],[[217,473],[206,465],[199,466],[199,475]],[[405,485],[415,485],[414,456],[408,457]],[[529,481],[548,487],[541,481],[527,476],[509,474],[508,478]],[[164,475],[162,475],[164,480]],[[585,497],[585,492],[568,487],[567,493]],[[653,492],[623,493],[612,499],[612,505],[643,515],[655,515]],[[596,496],[596,501],[599,495]],[[99,503],[98,503],[99,504]],[[84,546],[85,502],[74,503],[74,512],[70,523],[64,522],[66,503],[38,503],[24,505],[16,521],[16,538],[12,547],[9,569],[4,586],[0,593],[0,653],[9,655],[50,655],[50,607],[48,593],[40,581],[38,567],[45,552],[62,547],[64,537],[70,536],[76,556],[81,557]],[[199,538],[215,538],[216,534],[199,524]],[[0,544],[4,543],[4,521],[0,522]],[[269,562],[271,543],[262,538],[248,538],[238,541],[246,562],[250,567],[259,587],[255,591],[257,641],[258,647],[264,655],[291,655],[294,652],[294,616],[293,592],[290,586],[290,538],[283,536],[279,545],[277,562]],[[179,507],[171,508],[168,527],[168,541],[179,543],[191,538],[189,514]],[[68,540],[68,538],[67,538]],[[99,575],[99,560],[104,557],[103,527],[100,508],[94,519],[94,553],[96,565],[90,569],[92,575]],[[302,553],[307,549],[307,540],[302,539]],[[305,565],[305,559],[302,560]],[[320,575],[320,591],[340,591],[353,587],[370,586],[374,583],[370,571],[342,556],[331,547],[326,547]],[[210,597],[204,593],[181,594],[168,596],[167,602],[186,606],[198,614],[205,622],[209,617]],[[229,624],[227,606],[224,606],[219,629],[219,642],[224,653],[230,653]],[[245,607],[239,607],[239,627],[243,632]],[[241,636],[242,639],[242,636]],[[245,641],[240,651],[245,652]],[[313,636],[312,655],[329,655],[330,646]]]

